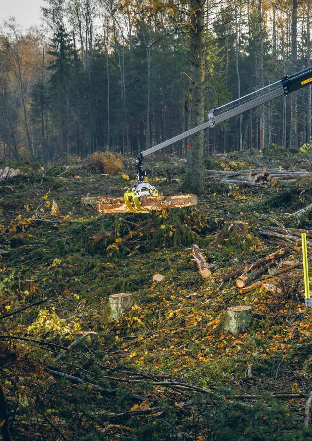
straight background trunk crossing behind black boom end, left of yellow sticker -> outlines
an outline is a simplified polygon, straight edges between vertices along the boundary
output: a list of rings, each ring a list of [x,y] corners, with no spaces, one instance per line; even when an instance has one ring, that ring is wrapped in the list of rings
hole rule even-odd
[[[291,10],[291,70],[297,71],[297,6],[298,0],[293,0]],[[297,131],[297,94],[290,95],[290,147],[298,146]]]

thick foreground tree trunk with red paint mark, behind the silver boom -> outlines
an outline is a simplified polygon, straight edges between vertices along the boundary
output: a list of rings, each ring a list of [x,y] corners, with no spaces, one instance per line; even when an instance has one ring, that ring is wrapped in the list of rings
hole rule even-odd
[[[189,127],[204,123],[204,0],[190,0],[190,69],[188,120]],[[204,190],[204,133],[188,139],[186,176],[183,187],[194,193]]]

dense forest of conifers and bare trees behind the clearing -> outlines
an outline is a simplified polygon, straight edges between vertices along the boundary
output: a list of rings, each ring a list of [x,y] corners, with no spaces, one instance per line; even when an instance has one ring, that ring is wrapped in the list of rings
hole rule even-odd
[[[0,28],[0,158],[136,152],[190,128],[192,15],[211,108],[311,64],[310,0],[46,0]],[[204,133],[204,154],[311,140],[311,86]],[[184,156],[186,140],[167,152]],[[189,147],[192,148],[189,144]]]

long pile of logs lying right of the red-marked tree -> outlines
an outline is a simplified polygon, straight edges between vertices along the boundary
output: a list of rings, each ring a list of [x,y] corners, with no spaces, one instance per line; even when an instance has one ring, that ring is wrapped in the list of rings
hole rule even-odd
[[[291,183],[297,179],[312,179],[312,173],[306,170],[269,170],[268,167],[239,170],[237,172],[215,170],[207,170],[207,172],[206,180],[214,179],[233,185],[259,186],[262,184],[274,186],[277,183]]]

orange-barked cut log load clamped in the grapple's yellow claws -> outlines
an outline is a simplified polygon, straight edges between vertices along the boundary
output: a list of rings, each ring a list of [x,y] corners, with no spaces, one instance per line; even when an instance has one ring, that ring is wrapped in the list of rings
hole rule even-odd
[[[123,198],[82,198],[85,205],[95,206],[100,213],[131,213]],[[142,196],[140,205],[147,211],[183,208],[197,205],[196,194],[177,196]]]

